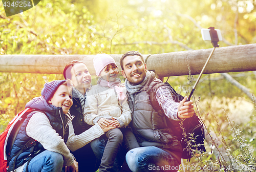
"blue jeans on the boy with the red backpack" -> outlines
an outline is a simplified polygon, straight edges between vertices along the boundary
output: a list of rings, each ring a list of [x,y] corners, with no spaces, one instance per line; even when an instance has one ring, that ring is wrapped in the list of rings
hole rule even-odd
[[[28,171],[61,171],[63,165],[63,157],[59,153],[45,150],[31,159]],[[23,172],[26,171],[27,165],[24,166]]]

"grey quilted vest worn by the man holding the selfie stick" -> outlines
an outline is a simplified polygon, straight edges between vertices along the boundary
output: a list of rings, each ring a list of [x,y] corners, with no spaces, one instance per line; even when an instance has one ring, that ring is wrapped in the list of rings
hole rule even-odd
[[[167,127],[164,116],[159,116],[153,109],[148,93],[154,90],[161,80],[152,81],[135,94],[132,109],[132,128],[140,146],[156,146],[170,152],[182,152],[182,147],[173,131]]]

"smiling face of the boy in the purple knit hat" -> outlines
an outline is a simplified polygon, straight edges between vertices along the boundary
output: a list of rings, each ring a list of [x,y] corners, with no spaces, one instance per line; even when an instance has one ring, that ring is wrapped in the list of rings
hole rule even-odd
[[[72,95],[67,85],[59,85],[53,97],[48,101],[56,107],[62,107],[63,113],[67,114],[73,104]]]

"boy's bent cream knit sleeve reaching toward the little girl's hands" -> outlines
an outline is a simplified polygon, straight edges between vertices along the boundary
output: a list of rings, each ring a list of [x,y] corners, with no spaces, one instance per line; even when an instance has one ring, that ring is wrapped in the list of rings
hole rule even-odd
[[[74,128],[72,122],[69,122],[69,138],[67,141],[67,146],[70,148],[71,151],[75,151],[84,145],[90,143],[92,140],[100,137],[103,135],[104,132],[98,124],[90,127],[87,131],[75,135]]]

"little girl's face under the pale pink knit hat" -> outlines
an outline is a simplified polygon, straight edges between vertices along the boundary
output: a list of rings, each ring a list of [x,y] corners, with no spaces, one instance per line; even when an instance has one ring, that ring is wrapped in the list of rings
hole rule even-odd
[[[118,76],[117,66],[114,63],[105,66],[100,72],[100,76],[107,81],[115,81]]]

